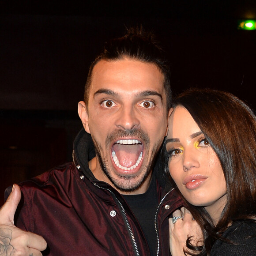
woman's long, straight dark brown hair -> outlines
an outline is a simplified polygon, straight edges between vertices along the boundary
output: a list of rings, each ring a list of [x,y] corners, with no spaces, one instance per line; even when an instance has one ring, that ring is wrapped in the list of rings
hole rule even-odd
[[[226,179],[227,203],[216,226],[203,207],[188,203],[203,230],[199,255],[210,255],[216,239],[226,241],[222,233],[230,223],[256,219],[256,117],[245,102],[218,90],[186,90],[177,97],[174,108],[177,105],[188,110],[210,142]]]

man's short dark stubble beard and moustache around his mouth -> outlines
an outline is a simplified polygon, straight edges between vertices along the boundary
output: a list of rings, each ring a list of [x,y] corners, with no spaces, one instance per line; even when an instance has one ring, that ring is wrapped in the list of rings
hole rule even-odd
[[[149,140],[147,134],[145,134],[141,129],[132,130],[131,132],[126,132],[123,130],[118,130],[116,132],[113,132],[106,139],[106,148],[109,148],[108,147],[109,143],[114,141],[114,139],[113,139],[114,137],[118,137],[120,139],[120,137],[132,136],[135,134],[140,139],[143,139],[144,147],[146,149],[149,148],[150,140]],[[158,140],[154,144],[154,147],[152,148],[152,151],[151,151],[151,158],[149,159],[149,162],[147,163],[146,166],[144,166],[144,162],[142,163],[141,168],[143,168],[143,169],[139,170],[139,175],[138,174],[122,175],[122,174],[115,173],[115,175],[117,176],[117,178],[116,178],[116,177],[113,177],[113,175],[111,175],[111,167],[108,166],[108,161],[106,159],[107,156],[105,157],[105,159],[102,158],[102,155],[100,153],[102,151],[101,144],[98,143],[98,141],[94,138],[94,136],[92,136],[92,139],[94,142],[94,147],[95,147],[96,155],[98,158],[98,162],[100,163],[100,167],[101,167],[103,173],[109,179],[109,181],[113,184],[113,186],[121,192],[133,192],[133,191],[136,191],[137,189],[139,189],[143,185],[143,183],[147,180],[147,177],[149,177],[149,175],[151,174],[151,170],[153,170],[154,160],[156,158],[159,148],[162,145],[162,140],[161,141]],[[147,152],[146,156],[149,156],[149,155],[150,155],[150,152]],[[145,156],[143,158],[143,161],[145,161]],[[141,177],[139,177],[140,175],[141,175]],[[138,177],[139,177],[139,179],[138,179]]]

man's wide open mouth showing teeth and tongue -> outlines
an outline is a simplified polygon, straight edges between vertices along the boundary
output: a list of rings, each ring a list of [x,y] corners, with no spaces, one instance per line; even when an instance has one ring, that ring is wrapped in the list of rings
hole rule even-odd
[[[137,139],[120,139],[112,147],[113,162],[118,168],[125,171],[139,166],[142,154],[143,144]]]

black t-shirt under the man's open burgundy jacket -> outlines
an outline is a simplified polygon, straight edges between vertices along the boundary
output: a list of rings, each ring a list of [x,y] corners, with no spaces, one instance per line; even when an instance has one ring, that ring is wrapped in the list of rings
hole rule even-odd
[[[155,176],[152,175],[151,184],[147,189],[147,192],[144,194],[123,196],[129,207],[132,209],[133,214],[138,219],[149,245],[150,254],[151,256],[154,256],[157,249],[157,236],[154,227],[154,217],[158,207]]]

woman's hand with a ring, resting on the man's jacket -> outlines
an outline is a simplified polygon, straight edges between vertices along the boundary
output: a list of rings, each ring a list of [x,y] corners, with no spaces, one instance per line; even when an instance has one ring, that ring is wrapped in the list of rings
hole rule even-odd
[[[184,256],[183,249],[187,250],[186,241],[192,237],[192,245],[203,245],[203,233],[200,226],[188,209],[182,207],[181,210],[173,212],[173,217],[169,218],[170,232],[170,252],[172,256]],[[173,223],[174,222],[174,223]]]

